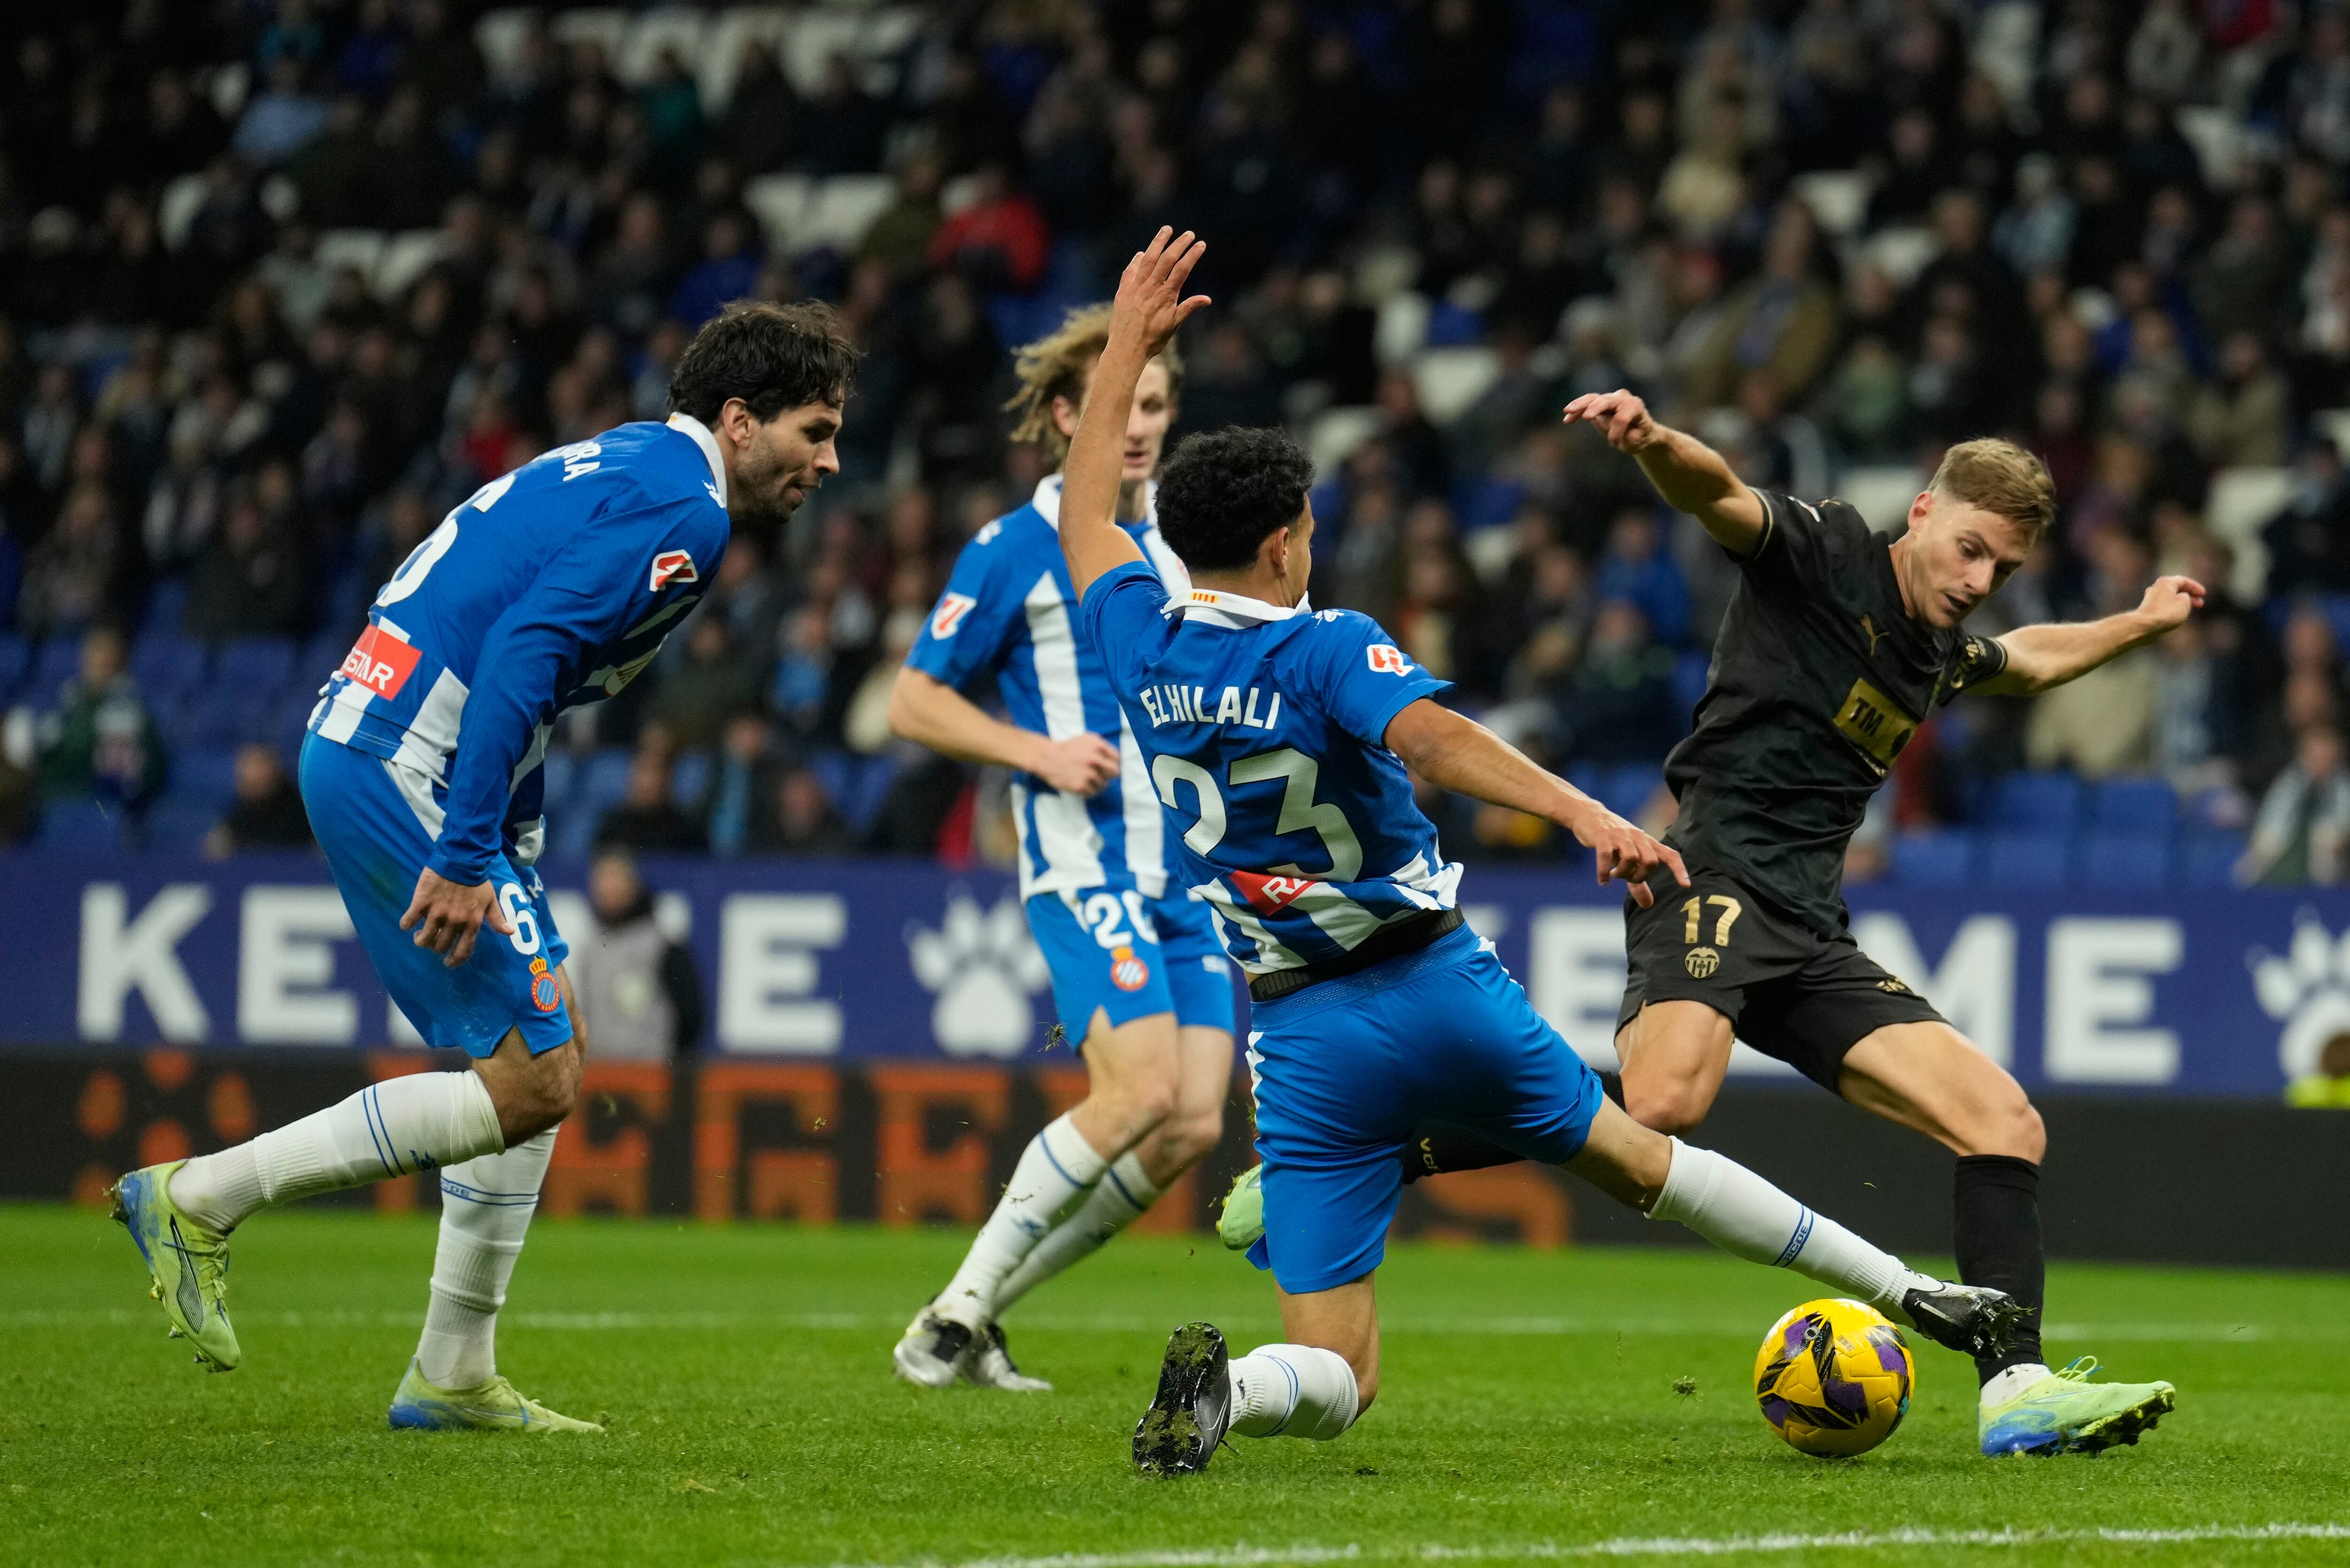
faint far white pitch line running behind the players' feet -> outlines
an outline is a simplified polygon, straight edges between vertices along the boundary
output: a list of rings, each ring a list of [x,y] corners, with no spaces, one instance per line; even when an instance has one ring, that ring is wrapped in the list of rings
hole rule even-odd
[[[80,1324],[146,1324],[153,1309],[134,1307],[9,1307],[0,1309],[0,1326],[9,1328],[70,1328]],[[423,1312],[402,1309],[327,1309],[327,1312],[237,1312],[247,1328],[414,1328],[423,1324]],[[895,1316],[872,1316],[858,1312],[533,1312],[515,1309],[505,1314],[510,1328],[545,1328],[555,1333],[740,1333],[759,1328],[900,1328]],[[1022,1328],[1043,1333],[1166,1333],[1173,1316],[1114,1316],[1114,1314],[1022,1314]],[[1271,1328],[1271,1316],[1241,1314],[1224,1319],[1227,1328]],[[1730,1319],[1577,1319],[1577,1316],[1490,1316],[1490,1319],[1415,1319],[1398,1316],[1379,1324],[1386,1335],[1492,1335],[1492,1338],[1570,1338],[1570,1335],[1622,1335],[1638,1340],[1748,1340],[1753,1324]],[[2345,1340],[2350,1324],[2301,1321],[2301,1324],[2049,1324],[2052,1340],[2143,1340],[2169,1345],[2258,1345],[2270,1340]]]

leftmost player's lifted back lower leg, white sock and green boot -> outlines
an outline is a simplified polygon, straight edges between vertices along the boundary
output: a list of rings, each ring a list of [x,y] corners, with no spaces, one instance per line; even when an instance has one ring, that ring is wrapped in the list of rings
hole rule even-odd
[[[132,1171],[113,1187],[113,1213],[146,1258],[172,1333],[228,1373],[240,1359],[228,1321],[228,1232],[247,1215],[503,1147],[479,1074],[416,1072],[233,1150]]]

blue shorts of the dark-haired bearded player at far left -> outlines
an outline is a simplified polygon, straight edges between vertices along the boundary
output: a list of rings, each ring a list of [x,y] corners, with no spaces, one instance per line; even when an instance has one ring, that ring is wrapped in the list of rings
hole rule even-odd
[[[571,945],[555,931],[536,870],[517,870],[503,853],[489,863],[515,933],[498,936],[484,922],[472,957],[449,969],[400,929],[439,835],[444,790],[414,769],[306,736],[301,799],[360,945],[425,1044],[494,1056],[508,1030],[522,1030],[522,1044],[538,1056],[571,1039],[555,976]]]

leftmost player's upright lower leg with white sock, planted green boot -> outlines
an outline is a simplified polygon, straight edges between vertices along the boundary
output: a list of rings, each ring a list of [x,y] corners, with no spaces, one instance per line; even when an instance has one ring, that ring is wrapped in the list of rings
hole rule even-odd
[[[503,1154],[442,1171],[432,1300],[416,1356],[392,1394],[395,1429],[602,1432],[526,1399],[498,1375],[498,1309],[552,1154],[555,1128],[548,1128]]]

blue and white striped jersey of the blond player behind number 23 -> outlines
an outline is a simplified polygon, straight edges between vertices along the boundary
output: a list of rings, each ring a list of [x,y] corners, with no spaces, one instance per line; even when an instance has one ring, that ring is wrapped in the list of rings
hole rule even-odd
[[[1121,527],[1142,545],[1154,581],[1189,590],[1191,576],[1159,538],[1149,508],[1142,522]],[[1060,555],[1060,475],[1039,484],[1018,512],[971,536],[905,663],[947,686],[994,670],[1003,708],[1020,729],[1055,741],[1090,729],[1116,743],[1119,778],[1093,799],[1032,773],[1013,776],[1022,898],[1093,886],[1166,893],[1166,830],[1142,752],[1119,715],[1100,654],[1076,632],[1076,590]]]

